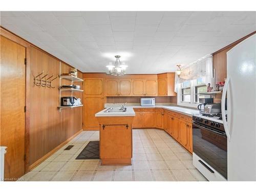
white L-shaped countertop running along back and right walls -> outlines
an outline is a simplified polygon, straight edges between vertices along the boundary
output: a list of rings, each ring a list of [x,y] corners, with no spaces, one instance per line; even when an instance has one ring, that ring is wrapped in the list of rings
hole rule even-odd
[[[105,107],[108,107],[108,108],[109,107],[113,107],[113,106],[116,107],[118,105],[116,105],[116,104],[114,104],[114,105],[111,105],[111,104],[105,105]],[[199,113],[198,110],[196,110],[196,109],[194,110],[194,109],[190,109],[190,108],[183,108],[181,106],[172,106],[172,105],[155,105],[155,106],[132,105],[132,106],[127,106],[127,108],[128,107],[132,107],[132,108],[162,108],[162,109],[178,112],[178,113],[181,113],[183,115],[190,116],[190,117],[192,117],[194,114],[198,114]]]

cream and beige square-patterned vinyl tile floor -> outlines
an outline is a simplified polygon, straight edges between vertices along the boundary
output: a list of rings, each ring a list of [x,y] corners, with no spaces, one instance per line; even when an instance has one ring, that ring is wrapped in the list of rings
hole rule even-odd
[[[192,156],[159,129],[133,130],[132,165],[101,165],[98,159],[75,158],[98,131],[83,131],[24,175],[24,181],[207,181],[193,166]],[[64,151],[68,145],[71,150]]]

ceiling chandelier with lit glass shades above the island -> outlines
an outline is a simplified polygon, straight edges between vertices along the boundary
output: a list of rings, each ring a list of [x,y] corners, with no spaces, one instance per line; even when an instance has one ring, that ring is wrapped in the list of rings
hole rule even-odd
[[[109,69],[109,73],[110,75],[115,75],[115,76],[119,76],[119,75],[126,75],[125,70],[126,70],[126,66],[124,62],[121,63],[120,61],[120,55],[116,55],[116,61],[115,61],[115,65],[113,65],[112,62],[109,63],[109,65],[107,65],[106,67]]]

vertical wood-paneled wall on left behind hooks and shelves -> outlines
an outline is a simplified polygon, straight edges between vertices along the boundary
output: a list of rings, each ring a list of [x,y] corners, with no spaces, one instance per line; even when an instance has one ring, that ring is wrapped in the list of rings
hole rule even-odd
[[[70,66],[56,58],[31,47],[30,49],[30,155],[29,164],[37,163],[42,157],[54,150],[82,129],[82,108],[65,109],[58,111],[59,105],[59,78],[53,81],[53,87],[45,88],[34,86],[33,78],[42,70],[49,74],[59,75],[68,73]],[[78,72],[82,78],[82,73]],[[71,81],[62,79],[62,84],[71,84]],[[81,84],[75,83],[75,84]],[[82,89],[82,88],[81,88]],[[61,92],[61,96],[71,96],[71,92]],[[82,99],[81,93],[73,96]]]

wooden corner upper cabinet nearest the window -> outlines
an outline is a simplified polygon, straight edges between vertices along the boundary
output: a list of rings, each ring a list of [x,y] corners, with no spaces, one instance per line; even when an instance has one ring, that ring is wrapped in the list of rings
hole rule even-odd
[[[174,91],[175,73],[161,73],[158,77],[158,96],[176,96]]]

